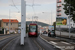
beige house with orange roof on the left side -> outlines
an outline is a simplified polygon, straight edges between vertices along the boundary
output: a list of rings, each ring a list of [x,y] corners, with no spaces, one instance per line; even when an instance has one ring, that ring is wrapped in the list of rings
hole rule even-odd
[[[1,27],[6,28],[6,30],[9,30],[9,19],[2,19],[0,23]],[[15,30],[17,28],[18,28],[18,20],[10,19],[10,30]]]

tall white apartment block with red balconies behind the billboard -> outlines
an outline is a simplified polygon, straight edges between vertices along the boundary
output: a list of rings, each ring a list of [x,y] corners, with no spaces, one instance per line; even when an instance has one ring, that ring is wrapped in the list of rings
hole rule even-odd
[[[62,25],[61,27],[69,28],[69,18],[68,18],[68,15],[64,13],[65,10],[63,9],[64,6],[62,4],[65,4],[64,0],[56,1],[56,17],[67,17],[67,25],[64,25],[64,26]],[[75,27],[75,23],[71,18],[70,18],[70,27]]]

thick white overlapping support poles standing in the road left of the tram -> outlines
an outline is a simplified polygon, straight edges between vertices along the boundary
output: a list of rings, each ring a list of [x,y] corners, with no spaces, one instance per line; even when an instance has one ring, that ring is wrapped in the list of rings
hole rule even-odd
[[[21,45],[24,45],[24,36],[25,36],[25,1],[21,0]]]

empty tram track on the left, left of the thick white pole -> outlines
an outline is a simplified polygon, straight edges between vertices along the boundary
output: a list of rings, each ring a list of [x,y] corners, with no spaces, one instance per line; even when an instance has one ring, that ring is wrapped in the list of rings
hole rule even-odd
[[[14,36],[11,36],[11,37],[9,37],[9,38],[6,38],[6,39],[4,39],[4,40],[1,40],[0,41],[0,50],[5,50],[6,49],[6,47],[8,46],[8,44],[10,43],[10,42],[12,42],[14,39],[16,39],[17,37],[18,37],[19,35],[14,35]],[[2,44],[1,44],[2,43]]]

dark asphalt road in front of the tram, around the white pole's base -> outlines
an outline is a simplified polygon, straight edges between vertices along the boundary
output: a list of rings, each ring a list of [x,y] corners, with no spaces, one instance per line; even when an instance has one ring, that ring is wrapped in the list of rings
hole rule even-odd
[[[10,38],[9,38],[10,39]],[[8,40],[6,40],[8,41]],[[2,41],[2,44],[6,41]],[[16,37],[8,44],[3,46],[3,50],[58,50],[54,46],[43,41],[40,37],[26,37],[24,46],[20,45],[20,36]],[[1,45],[1,42],[0,42]]]

